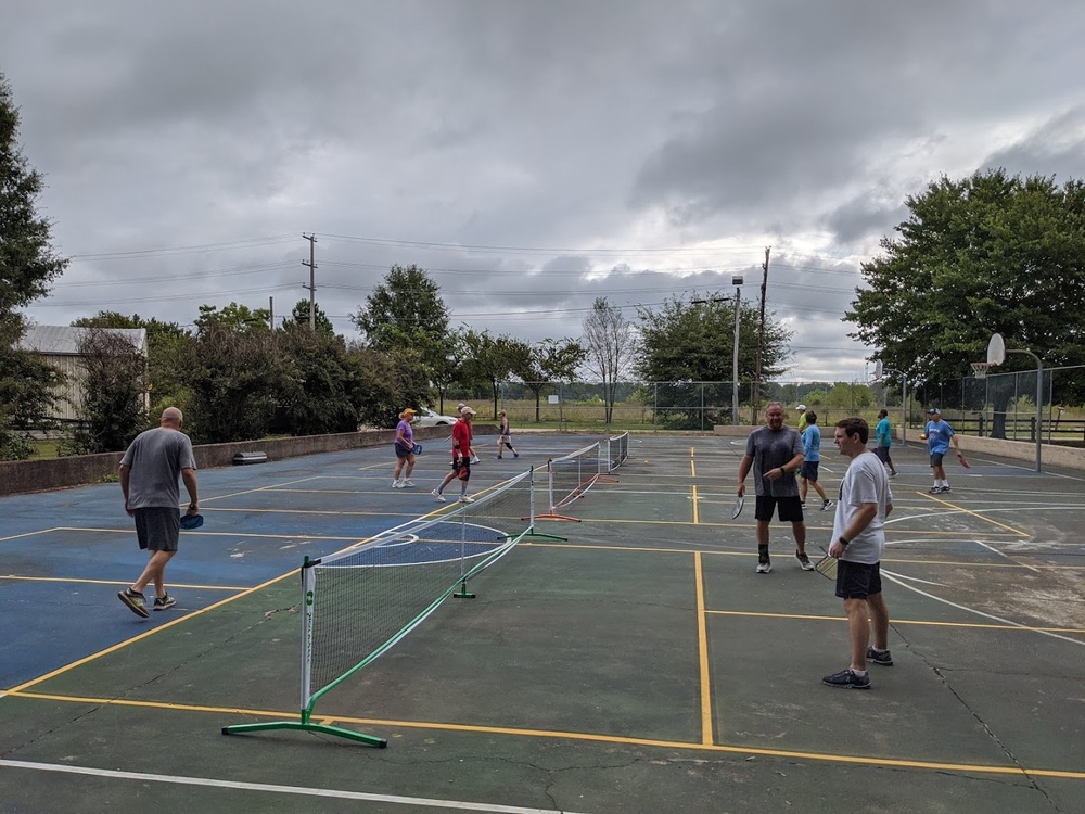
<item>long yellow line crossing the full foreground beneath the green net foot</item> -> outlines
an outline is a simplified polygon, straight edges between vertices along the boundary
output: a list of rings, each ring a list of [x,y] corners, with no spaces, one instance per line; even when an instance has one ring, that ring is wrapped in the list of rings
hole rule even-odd
[[[72,703],[89,703],[103,707],[141,707],[179,712],[209,712],[215,714],[247,715],[279,720],[294,720],[297,711],[272,712],[269,710],[246,710],[237,707],[197,707],[191,704],[165,703],[154,701],[132,701],[118,698],[84,698],[76,696],[52,696],[43,692],[26,692],[18,688],[8,692],[10,697],[31,698],[42,701],[66,701]],[[707,751],[724,754],[758,755],[766,758],[784,758],[789,760],[810,760],[826,763],[844,763],[864,766],[892,766],[895,768],[929,768],[935,772],[971,772],[978,774],[1012,775],[1018,777],[1058,777],[1070,780],[1085,780],[1085,772],[1068,772],[1055,768],[1035,768],[1017,765],[994,766],[974,763],[939,763],[935,761],[917,761],[898,758],[875,758],[858,754],[831,754],[827,752],[799,752],[786,749],[764,749],[761,747],[725,746],[720,743],[693,743],[684,740],[658,740],[654,738],[629,738],[617,735],[601,735],[593,733],[560,732],[554,729],[524,729],[505,726],[476,726],[469,724],[449,724],[427,721],[395,721],[384,718],[362,718],[347,716],[322,716],[322,720],[339,724],[363,727],[399,727],[405,729],[435,729],[438,732],[460,732],[483,735],[511,735],[525,738],[557,738],[561,740],[578,740],[595,743],[621,743],[625,746],[652,747],[658,749],[682,749],[691,751]]]

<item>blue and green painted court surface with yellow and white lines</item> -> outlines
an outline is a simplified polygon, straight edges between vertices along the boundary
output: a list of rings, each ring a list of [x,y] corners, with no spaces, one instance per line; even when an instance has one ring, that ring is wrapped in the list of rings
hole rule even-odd
[[[522,432],[471,491],[601,437]],[[634,435],[557,510],[536,478],[538,534],[316,705],[386,748],[222,729],[298,717],[304,557],[460,510],[429,494],[438,442],[413,489],[372,450],[202,471],[178,603],[148,620],[116,598],[144,562],[116,484],[0,498],[0,811],[1085,811],[1085,473],[970,455],[930,495],[894,447],[894,664],[844,691],[832,584],[780,523],[756,574],[752,501],[731,520],[742,449]],[[827,443],[830,496],[843,465]],[[412,568],[386,571],[407,592]],[[343,583],[360,636],[371,588]]]

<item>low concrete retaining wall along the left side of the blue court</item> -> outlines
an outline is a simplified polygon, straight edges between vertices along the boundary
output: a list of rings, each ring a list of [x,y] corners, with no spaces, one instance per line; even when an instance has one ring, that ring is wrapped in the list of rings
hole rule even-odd
[[[474,434],[492,435],[494,428],[481,424],[474,428]],[[414,430],[414,440],[424,444],[426,441],[442,443],[451,437],[449,427],[419,427]],[[269,441],[240,441],[232,444],[203,444],[194,447],[196,466],[200,469],[233,466],[237,453],[261,451],[268,460],[296,458],[302,455],[317,453],[336,453],[343,449],[361,449],[365,447],[392,446],[395,430],[365,430],[361,432],[345,432],[336,435],[303,435],[291,438],[273,438]],[[69,458],[50,460],[0,461],[0,495],[12,495],[22,492],[44,492],[46,489],[80,486],[87,483],[101,483],[117,474],[123,453],[105,453],[103,455],[76,455]],[[390,466],[394,466],[391,450]],[[250,463],[246,466],[259,466]]]

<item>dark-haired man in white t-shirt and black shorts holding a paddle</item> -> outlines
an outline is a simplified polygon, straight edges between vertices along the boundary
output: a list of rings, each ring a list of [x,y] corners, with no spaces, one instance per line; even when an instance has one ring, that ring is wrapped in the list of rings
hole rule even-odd
[[[867,661],[891,666],[889,608],[882,596],[881,556],[885,548],[885,518],[893,511],[893,493],[881,460],[867,449],[870,428],[861,418],[837,422],[833,443],[851,458],[832,522],[829,556],[840,562],[837,596],[844,600],[852,663],[821,681],[842,689],[870,689]],[[870,623],[867,623],[869,613]],[[870,633],[873,631],[873,647]]]

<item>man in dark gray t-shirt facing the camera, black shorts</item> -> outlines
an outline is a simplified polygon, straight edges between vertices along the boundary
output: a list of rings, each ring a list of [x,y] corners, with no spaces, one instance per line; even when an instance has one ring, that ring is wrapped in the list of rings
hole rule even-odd
[[[799,501],[795,473],[803,466],[803,440],[795,430],[783,425],[783,405],[769,402],[765,409],[767,425],[750,433],[745,455],[739,463],[739,497],[745,497],[745,476],[753,468],[754,492],[757,495],[757,573],[773,570],[768,557],[768,524],[779,507],[781,521],[791,523],[795,536],[795,559],[803,571],[813,571],[806,556],[806,522]]]

